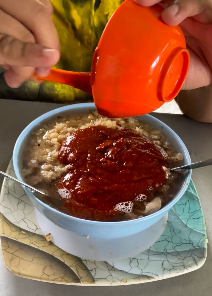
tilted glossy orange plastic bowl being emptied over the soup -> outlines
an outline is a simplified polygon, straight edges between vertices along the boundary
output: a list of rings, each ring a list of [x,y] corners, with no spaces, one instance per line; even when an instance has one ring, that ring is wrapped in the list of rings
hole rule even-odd
[[[126,0],[114,12],[92,64],[94,102],[102,115],[143,115],[170,102],[185,80],[189,53],[179,26],[166,25],[159,5]]]

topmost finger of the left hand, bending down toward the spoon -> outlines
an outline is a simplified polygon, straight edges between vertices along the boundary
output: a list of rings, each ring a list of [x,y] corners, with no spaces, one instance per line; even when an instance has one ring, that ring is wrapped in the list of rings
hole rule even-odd
[[[35,36],[36,43],[59,49],[59,40],[51,13],[41,1],[1,0],[0,9],[30,30]]]

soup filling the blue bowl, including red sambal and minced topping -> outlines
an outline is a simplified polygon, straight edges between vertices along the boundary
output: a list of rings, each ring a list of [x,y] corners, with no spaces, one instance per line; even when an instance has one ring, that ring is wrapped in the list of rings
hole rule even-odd
[[[147,123],[91,112],[57,117],[33,131],[22,175],[49,194],[38,198],[63,213],[123,221],[154,213],[173,199],[183,175],[169,170],[182,160]]]

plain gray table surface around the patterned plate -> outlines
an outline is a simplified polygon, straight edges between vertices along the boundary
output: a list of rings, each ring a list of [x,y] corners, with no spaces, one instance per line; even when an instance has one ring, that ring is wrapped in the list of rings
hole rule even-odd
[[[0,170],[6,171],[15,141],[23,128],[58,104],[0,99]],[[154,113],[168,124],[186,144],[193,162],[212,157],[212,125],[198,123],[183,115]],[[206,221],[208,255],[202,268],[185,275],[146,284],[116,287],[77,287],[50,284],[14,276],[4,266],[0,255],[1,296],[66,295],[212,295],[212,166],[194,170],[192,178],[199,193]],[[2,182],[0,178],[0,185]]]

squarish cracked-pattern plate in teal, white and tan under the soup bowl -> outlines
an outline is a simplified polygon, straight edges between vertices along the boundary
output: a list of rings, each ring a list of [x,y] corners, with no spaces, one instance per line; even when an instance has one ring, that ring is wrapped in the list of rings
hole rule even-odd
[[[14,175],[12,162],[7,173]],[[134,258],[83,260],[47,242],[24,190],[4,180],[0,196],[1,249],[6,267],[18,276],[74,285],[126,285],[165,279],[200,268],[207,255],[202,208],[194,184],[169,211],[164,233]]]

